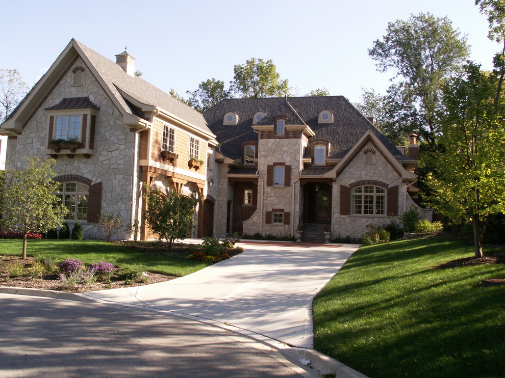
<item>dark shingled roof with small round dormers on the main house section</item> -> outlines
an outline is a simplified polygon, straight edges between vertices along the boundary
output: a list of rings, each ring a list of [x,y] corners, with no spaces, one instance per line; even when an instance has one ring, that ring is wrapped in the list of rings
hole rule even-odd
[[[319,113],[323,110],[333,113],[334,123],[318,123]],[[363,134],[370,130],[395,159],[399,161],[411,160],[403,155],[343,96],[222,100],[204,113],[209,128],[216,134],[217,140],[221,144],[222,154],[232,159],[238,159],[242,154],[242,143],[258,139],[258,135],[251,127],[253,116],[258,111],[266,113],[258,125],[271,125],[276,116],[287,116],[286,125],[308,125],[315,132],[312,140],[330,142],[329,158],[344,157]],[[228,112],[238,115],[237,125],[223,125],[223,117]],[[310,157],[310,149],[307,148],[305,152],[304,157]]]

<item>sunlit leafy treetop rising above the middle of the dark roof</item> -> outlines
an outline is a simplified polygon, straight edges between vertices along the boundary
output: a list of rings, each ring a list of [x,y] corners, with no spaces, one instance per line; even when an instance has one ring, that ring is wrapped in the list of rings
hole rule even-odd
[[[288,95],[288,80],[281,80],[272,60],[251,58],[233,67],[230,90],[239,98],[282,97]]]

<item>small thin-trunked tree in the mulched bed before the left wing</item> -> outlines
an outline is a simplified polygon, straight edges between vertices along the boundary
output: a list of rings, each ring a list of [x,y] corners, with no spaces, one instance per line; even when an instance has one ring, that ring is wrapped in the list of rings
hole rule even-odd
[[[55,159],[34,157],[22,171],[6,170],[3,194],[4,226],[23,233],[23,260],[27,258],[27,236],[30,232],[46,232],[62,224],[67,208],[55,194],[58,182],[53,181]]]

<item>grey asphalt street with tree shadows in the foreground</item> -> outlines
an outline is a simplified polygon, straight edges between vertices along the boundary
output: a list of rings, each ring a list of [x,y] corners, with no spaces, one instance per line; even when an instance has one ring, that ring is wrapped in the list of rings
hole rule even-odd
[[[0,294],[0,377],[109,376],[310,375],[264,344],[181,317]]]

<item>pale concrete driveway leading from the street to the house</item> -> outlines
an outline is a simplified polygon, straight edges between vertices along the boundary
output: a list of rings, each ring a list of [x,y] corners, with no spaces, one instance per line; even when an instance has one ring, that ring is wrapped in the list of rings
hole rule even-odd
[[[312,348],[312,299],[359,246],[238,245],[242,254],[176,280],[80,295],[216,321],[257,339]]]

